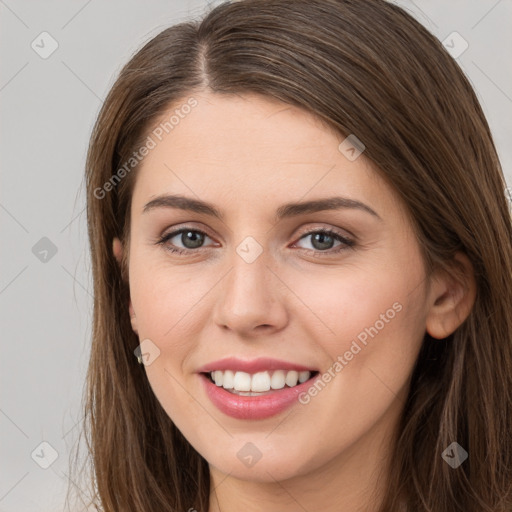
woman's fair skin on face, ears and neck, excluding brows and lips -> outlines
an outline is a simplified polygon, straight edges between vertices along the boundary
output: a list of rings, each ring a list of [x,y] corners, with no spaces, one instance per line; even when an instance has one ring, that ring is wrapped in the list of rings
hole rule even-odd
[[[366,510],[385,486],[425,332],[443,338],[471,309],[471,265],[457,255],[464,282],[445,272],[427,279],[401,201],[364,153],[349,161],[338,149],[344,137],[316,117],[254,94],[193,96],[198,105],[145,157],[133,190],[130,315],[140,340],[160,350],[147,378],[210,465],[210,512]],[[143,213],[163,193],[208,201],[224,219],[164,207]],[[380,218],[346,208],[274,220],[284,203],[335,195]],[[156,244],[185,226],[206,232],[200,249],[176,255]],[[334,253],[342,243],[333,239],[322,249],[307,235],[314,229],[356,244]],[[263,248],[250,264],[236,252],[248,236]],[[193,247],[181,235],[172,244]],[[118,239],[113,250],[121,261]],[[278,416],[224,415],[196,373],[231,355],[327,371],[394,303],[401,311],[317,396]],[[237,457],[248,442],[261,452],[252,467]]]

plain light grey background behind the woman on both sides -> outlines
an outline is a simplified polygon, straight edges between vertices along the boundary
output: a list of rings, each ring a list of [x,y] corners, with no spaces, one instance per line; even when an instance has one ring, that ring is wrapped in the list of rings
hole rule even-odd
[[[512,0],[395,3],[440,40],[457,31],[469,43],[457,60],[512,185]],[[82,177],[102,99],[143,42],[207,7],[200,0],[0,0],[0,512],[63,510],[91,323]],[[47,59],[31,48],[44,31],[59,45]],[[57,250],[46,262],[32,251],[42,237]],[[49,458],[43,441],[58,452],[48,469],[31,457],[37,448],[36,460]]]

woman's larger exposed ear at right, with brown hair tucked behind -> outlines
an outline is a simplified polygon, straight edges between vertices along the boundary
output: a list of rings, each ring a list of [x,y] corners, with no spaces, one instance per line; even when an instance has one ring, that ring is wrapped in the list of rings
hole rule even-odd
[[[453,271],[439,270],[431,281],[426,329],[433,338],[452,334],[469,316],[476,298],[473,265],[462,252],[455,255]]]

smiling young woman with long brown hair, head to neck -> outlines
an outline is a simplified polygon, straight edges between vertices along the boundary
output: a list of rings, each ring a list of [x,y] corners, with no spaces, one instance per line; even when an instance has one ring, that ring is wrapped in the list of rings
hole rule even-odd
[[[99,510],[512,510],[505,181],[403,10],[242,0],[164,30],[86,178]]]

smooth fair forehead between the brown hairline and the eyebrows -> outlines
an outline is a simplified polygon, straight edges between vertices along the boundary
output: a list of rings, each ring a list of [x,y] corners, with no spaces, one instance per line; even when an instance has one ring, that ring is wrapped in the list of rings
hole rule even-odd
[[[141,162],[134,188],[138,208],[162,193],[196,196],[226,209],[239,200],[270,207],[333,192],[372,202],[375,209],[386,206],[388,187],[364,153],[348,159],[339,148],[345,137],[309,112],[254,94],[192,96],[193,108],[176,113],[184,98],[150,134],[154,148]]]

